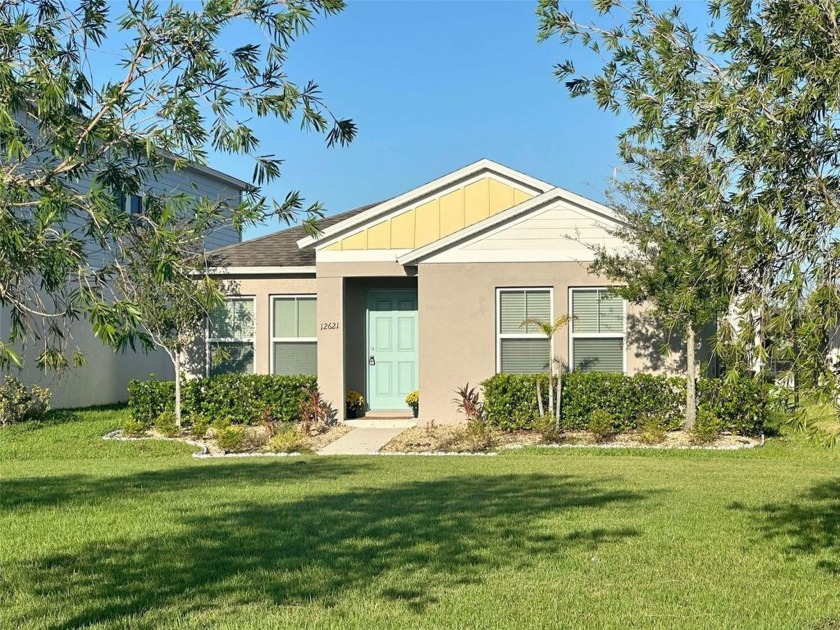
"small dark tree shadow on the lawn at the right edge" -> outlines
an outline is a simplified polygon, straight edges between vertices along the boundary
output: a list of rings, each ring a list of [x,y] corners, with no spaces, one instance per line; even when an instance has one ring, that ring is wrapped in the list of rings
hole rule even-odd
[[[753,511],[765,538],[782,542],[789,552],[818,556],[817,567],[840,575],[840,479],[811,486],[796,502],[730,508]]]

